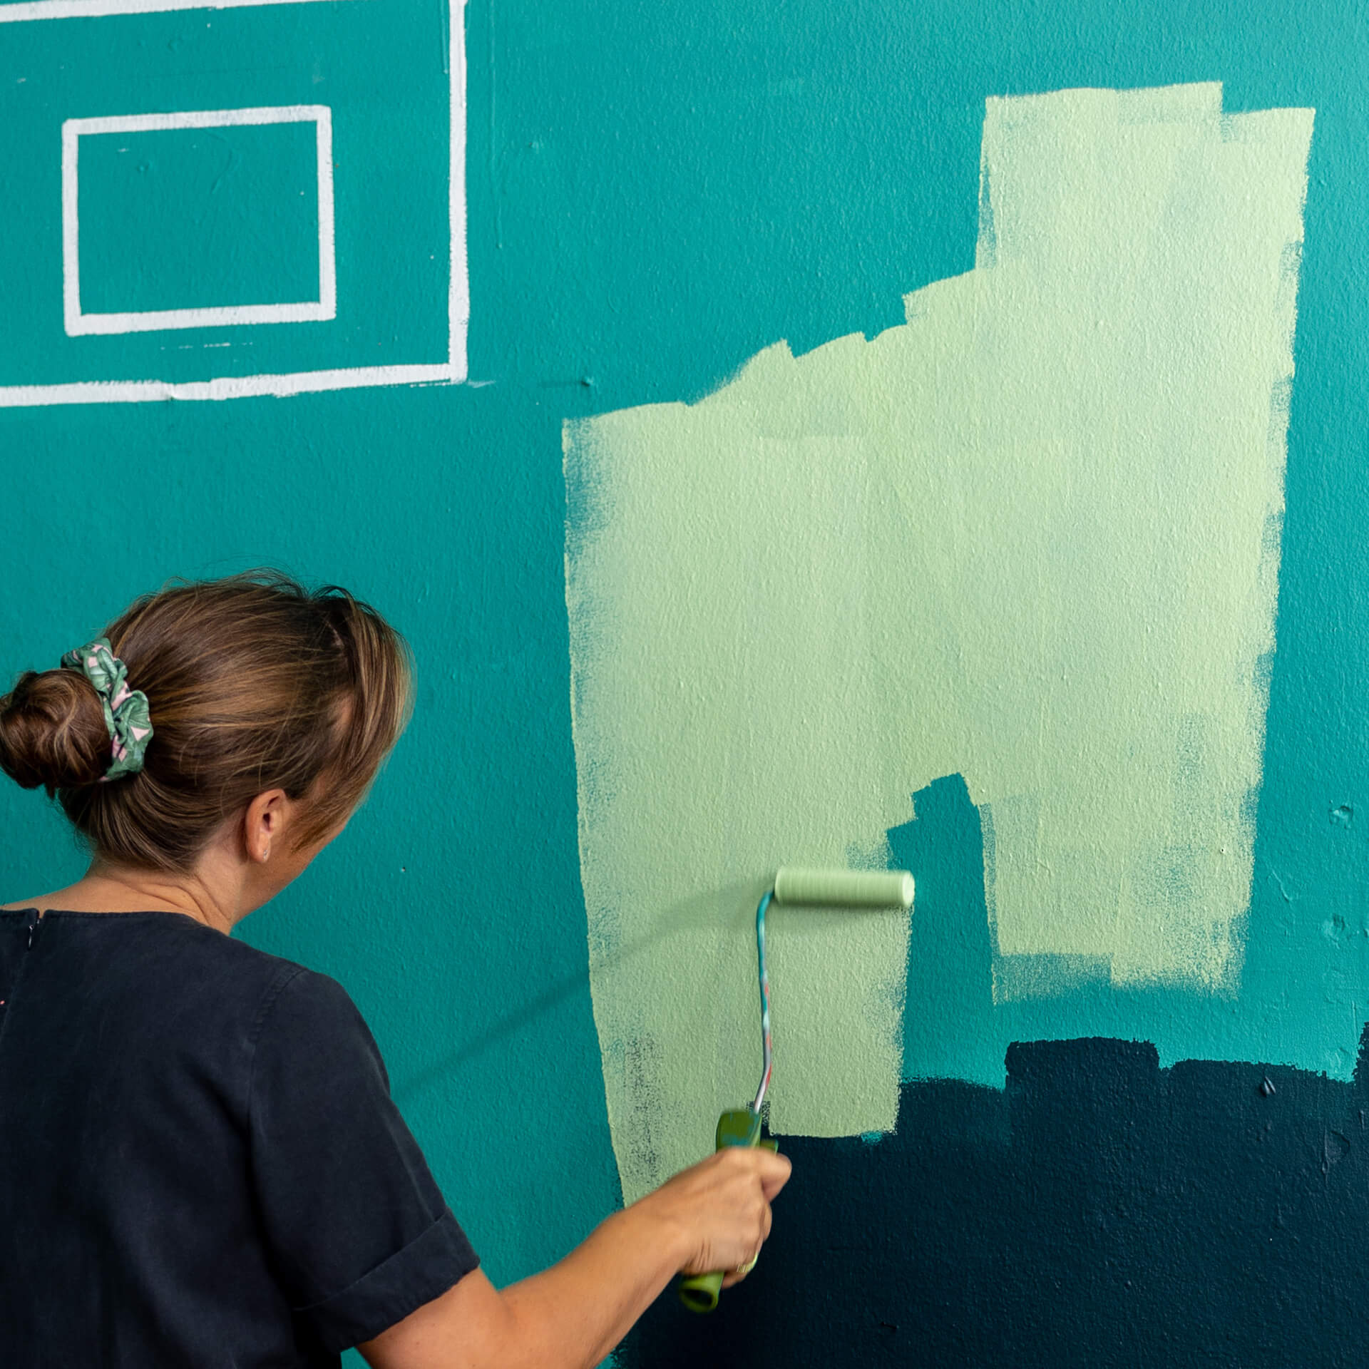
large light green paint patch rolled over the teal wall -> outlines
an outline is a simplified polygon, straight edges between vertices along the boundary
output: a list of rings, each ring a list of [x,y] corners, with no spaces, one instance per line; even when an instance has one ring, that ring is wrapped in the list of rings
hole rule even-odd
[[[627,1198],[754,1087],[775,867],[878,849],[942,775],[991,815],[1001,998],[1235,991],[1310,136],[1218,85],[990,100],[976,267],[906,326],[567,426]],[[776,1131],[894,1125],[906,936],[776,913]]]

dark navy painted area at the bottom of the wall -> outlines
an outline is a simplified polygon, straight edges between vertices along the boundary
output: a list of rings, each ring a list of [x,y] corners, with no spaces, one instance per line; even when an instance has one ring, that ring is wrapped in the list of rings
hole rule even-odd
[[[904,1086],[879,1144],[795,1139],[812,1175],[767,1283],[709,1321],[660,1299],[624,1366],[1355,1365],[1369,1186],[1361,1079],[1083,1039],[1005,1091]],[[899,1192],[906,1236],[865,1195]]]

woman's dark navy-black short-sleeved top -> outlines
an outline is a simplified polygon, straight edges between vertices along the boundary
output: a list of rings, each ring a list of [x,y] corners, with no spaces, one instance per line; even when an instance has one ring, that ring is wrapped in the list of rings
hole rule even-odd
[[[342,987],[0,912],[0,1365],[337,1365],[476,1266]]]

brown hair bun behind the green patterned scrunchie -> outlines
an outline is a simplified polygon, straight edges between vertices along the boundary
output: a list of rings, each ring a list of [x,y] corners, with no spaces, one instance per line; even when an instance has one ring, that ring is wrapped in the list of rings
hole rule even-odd
[[[0,698],[0,769],[25,789],[97,784],[110,765],[100,695],[75,671],[25,671]]]

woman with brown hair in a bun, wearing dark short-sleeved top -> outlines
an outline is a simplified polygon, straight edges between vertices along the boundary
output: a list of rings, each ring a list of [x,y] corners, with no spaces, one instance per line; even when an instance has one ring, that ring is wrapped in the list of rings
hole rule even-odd
[[[782,1157],[721,1151],[496,1290],[331,979],[226,934],[346,826],[411,708],[335,587],[178,583],[0,698],[89,845],[0,910],[0,1362],[594,1365],[676,1272],[742,1276]]]

